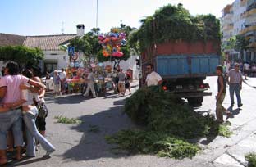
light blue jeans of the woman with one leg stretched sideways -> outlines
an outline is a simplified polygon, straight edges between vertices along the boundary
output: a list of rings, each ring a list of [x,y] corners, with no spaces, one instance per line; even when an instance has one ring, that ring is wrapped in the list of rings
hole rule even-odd
[[[24,112],[23,114],[23,120],[25,122],[26,126],[26,137],[27,137],[27,148],[26,148],[26,154],[27,156],[35,156],[35,140],[38,140],[43,147],[44,150],[46,151],[53,151],[55,148],[53,145],[48,142],[46,138],[43,137],[42,134],[39,133],[38,129],[36,128],[35,125],[35,120],[37,115],[39,115],[39,111],[37,108],[34,106],[33,108],[30,109],[28,112]]]

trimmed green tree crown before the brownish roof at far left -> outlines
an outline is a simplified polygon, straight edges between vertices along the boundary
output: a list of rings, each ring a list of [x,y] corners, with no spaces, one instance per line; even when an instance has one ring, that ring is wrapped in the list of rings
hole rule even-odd
[[[0,47],[0,60],[16,61],[20,67],[23,65],[38,65],[43,59],[43,52],[39,48],[28,48],[24,46]]]

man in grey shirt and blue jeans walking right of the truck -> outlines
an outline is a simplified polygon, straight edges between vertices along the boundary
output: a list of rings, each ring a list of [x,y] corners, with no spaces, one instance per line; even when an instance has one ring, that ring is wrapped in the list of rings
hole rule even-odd
[[[234,92],[237,98],[237,106],[243,106],[240,97],[240,90],[242,89],[243,77],[240,72],[240,65],[235,63],[235,69],[230,70],[227,75],[227,83],[230,85],[231,107],[234,106]]]

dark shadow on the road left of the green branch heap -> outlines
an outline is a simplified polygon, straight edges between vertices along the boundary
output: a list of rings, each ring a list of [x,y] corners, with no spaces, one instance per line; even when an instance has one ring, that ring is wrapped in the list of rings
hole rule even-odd
[[[118,105],[124,104],[124,100],[116,103]],[[112,146],[107,144],[104,139],[106,135],[135,126],[126,115],[123,115],[122,106],[115,106],[94,115],[84,115],[80,117],[80,120],[84,124],[77,124],[71,129],[84,133],[83,137],[80,138],[80,143],[77,146],[72,147],[62,155],[64,160],[80,161],[124,156],[113,154]]]

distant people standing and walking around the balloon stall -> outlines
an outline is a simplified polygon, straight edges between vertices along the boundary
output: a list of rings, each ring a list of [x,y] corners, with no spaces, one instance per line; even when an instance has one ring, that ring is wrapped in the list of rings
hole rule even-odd
[[[89,97],[90,95],[92,98],[96,98],[98,96],[98,88],[97,83],[95,79],[96,71],[94,68],[89,68],[89,73],[82,74],[82,83],[80,83],[80,92],[82,93],[83,97]],[[46,79],[49,79],[49,75]],[[114,70],[112,70],[112,73],[107,74],[106,76],[108,80],[103,87],[105,90],[107,87],[110,90],[114,90],[115,93],[118,93],[119,96],[125,96],[126,91],[128,90],[129,95],[130,92],[130,83],[132,81],[132,74],[130,74],[130,71],[127,70],[126,72],[123,71],[123,69],[120,68],[120,66],[117,66]],[[57,70],[53,72],[53,93],[55,96],[62,96],[65,93],[68,93],[67,91],[67,79],[66,79],[66,72],[64,69],[62,69],[61,73],[58,73]],[[109,85],[110,84],[110,85]]]

